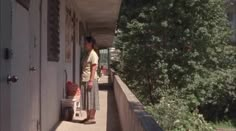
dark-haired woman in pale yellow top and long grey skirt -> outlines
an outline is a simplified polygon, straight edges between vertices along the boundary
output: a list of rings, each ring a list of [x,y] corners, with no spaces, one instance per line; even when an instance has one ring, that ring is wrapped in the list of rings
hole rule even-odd
[[[85,37],[86,55],[83,58],[81,106],[87,111],[87,118],[82,122],[95,124],[96,110],[99,110],[99,95],[97,82],[98,55],[94,51],[96,41],[93,37]]]

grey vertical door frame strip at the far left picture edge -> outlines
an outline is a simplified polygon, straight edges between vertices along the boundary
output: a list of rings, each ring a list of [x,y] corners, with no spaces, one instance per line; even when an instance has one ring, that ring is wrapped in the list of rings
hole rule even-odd
[[[3,33],[4,32],[4,33]],[[10,60],[4,58],[4,50],[11,48],[12,1],[0,0],[0,131],[10,130],[10,86],[6,79],[10,72]]]

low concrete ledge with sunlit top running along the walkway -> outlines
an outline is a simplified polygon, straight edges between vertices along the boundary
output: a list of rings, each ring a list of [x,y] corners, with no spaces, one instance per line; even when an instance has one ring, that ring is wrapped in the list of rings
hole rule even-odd
[[[110,71],[110,82],[113,83],[123,131],[162,131],[152,116],[144,110],[144,106],[137,97],[113,70]]]

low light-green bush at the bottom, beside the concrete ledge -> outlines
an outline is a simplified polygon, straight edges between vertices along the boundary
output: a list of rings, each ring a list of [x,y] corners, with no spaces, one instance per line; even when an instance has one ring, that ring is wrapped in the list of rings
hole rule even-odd
[[[213,131],[202,115],[190,112],[185,100],[177,97],[163,97],[160,104],[147,106],[165,131]]]

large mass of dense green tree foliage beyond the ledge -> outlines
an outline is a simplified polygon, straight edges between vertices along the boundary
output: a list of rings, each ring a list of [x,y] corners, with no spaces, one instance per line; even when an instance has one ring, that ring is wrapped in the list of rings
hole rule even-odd
[[[146,105],[178,92],[207,119],[236,103],[236,48],[223,0],[124,0],[121,75]],[[209,114],[209,112],[212,112]]]

